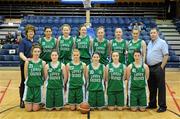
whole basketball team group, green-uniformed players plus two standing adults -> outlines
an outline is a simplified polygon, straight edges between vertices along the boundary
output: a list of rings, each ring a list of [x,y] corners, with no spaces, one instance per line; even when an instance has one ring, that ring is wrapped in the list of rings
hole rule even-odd
[[[157,28],[150,30],[148,46],[139,39],[139,29],[132,30],[130,41],[122,38],[121,28],[114,29],[111,40],[102,26],[95,38],[87,35],[85,25],[76,37],[68,24],[61,30],[55,38],[52,28],[45,27],[44,36],[34,39],[35,27],[25,27],[19,44],[21,108],[38,111],[44,105],[51,111],[68,105],[73,111],[87,102],[91,110],[166,111],[168,45]]]

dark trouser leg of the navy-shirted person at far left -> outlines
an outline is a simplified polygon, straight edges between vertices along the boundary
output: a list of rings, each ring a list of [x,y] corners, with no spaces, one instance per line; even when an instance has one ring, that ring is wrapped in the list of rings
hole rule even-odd
[[[20,64],[20,69],[21,69],[21,83],[20,83],[20,87],[19,87],[19,95],[20,95],[20,100],[23,100],[23,94],[24,94],[24,81],[25,81],[25,77],[24,77],[24,63]]]

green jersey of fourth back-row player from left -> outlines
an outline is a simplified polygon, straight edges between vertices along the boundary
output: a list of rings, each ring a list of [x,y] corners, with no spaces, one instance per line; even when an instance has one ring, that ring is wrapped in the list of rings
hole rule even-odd
[[[96,38],[93,41],[93,52],[98,52],[100,54],[100,63],[107,65],[108,60],[108,41],[103,39],[99,42]]]

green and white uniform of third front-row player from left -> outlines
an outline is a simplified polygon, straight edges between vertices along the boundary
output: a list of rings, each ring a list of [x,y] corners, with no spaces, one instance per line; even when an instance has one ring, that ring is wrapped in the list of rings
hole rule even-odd
[[[75,65],[73,61],[67,64],[69,66],[67,103],[69,104],[80,104],[85,101],[85,78],[83,64],[83,62],[80,62],[78,65]]]

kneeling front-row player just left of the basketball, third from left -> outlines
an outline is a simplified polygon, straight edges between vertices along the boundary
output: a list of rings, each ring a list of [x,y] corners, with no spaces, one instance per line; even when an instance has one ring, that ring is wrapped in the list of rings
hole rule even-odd
[[[68,74],[67,103],[70,110],[79,109],[79,104],[85,101],[85,72],[86,64],[80,61],[80,51],[73,50],[73,60],[66,66]]]

